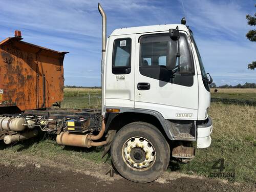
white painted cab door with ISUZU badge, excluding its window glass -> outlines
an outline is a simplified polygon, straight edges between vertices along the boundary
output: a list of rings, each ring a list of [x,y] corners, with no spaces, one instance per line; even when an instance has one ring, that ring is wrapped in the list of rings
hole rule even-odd
[[[167,31],[165,32],[167,33]],[[148,109],[161,113],[165,119],[197,120],[198,118],[198,78],[197,71],[193,77],[193,85],[181,86],[144,76],[140,73],[140,43],[136,35],[135,58],[135,108]],[[189,47],[190,41],[189,41]],[[150,83],[150,90],[138,90],[140,82]]]

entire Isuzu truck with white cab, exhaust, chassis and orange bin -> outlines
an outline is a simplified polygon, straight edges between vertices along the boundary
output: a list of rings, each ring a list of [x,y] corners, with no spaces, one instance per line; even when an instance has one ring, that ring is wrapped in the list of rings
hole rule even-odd
[[[102,16],[102,108],[67,110],[63,59],[15,37],[0,42],[0,139],[56,134],[61,145],[104,146],[117,172],[146,183],[170,157],[188,162],[211,144],[209,83],[193,32],[181,24],[122,28],[106,37]],[[59,108],[50,108],[56,105]]]

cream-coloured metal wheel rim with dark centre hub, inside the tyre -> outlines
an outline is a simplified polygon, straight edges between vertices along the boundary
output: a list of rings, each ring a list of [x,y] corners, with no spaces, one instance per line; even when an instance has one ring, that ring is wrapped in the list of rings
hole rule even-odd
[[[135,168],[147,168],[155,162],[153,145],[142,137],[127,140],[122,148],[124,162]]]

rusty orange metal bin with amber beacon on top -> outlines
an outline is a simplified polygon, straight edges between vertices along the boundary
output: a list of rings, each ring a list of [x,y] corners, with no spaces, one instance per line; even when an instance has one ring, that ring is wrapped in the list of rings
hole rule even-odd
[[[15,31],[15,37],[0,42],[0,112],[11,106],[19,111],[45,109],[63,99],[68,52],[29,44],[19,34]]]

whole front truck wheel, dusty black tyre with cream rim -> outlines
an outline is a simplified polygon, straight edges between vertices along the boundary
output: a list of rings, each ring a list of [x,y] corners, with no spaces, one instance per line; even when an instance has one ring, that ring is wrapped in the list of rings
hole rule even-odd
[[[133,122],[117,132],[111,146],[112,163],[124,178],[148,183],[167,169],[170,148],[154,125]]]

